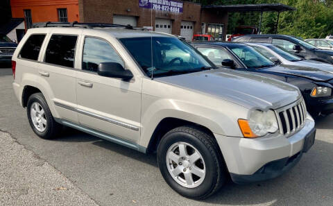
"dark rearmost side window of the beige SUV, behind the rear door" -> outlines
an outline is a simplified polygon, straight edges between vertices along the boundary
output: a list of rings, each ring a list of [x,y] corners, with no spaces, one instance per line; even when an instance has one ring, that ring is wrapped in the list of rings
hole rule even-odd
[[[31,35],[22,47],[19,57],[29,60],[37,60],[44,38],[45,35]]]

